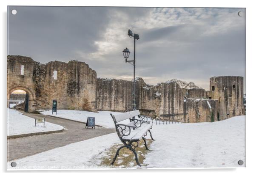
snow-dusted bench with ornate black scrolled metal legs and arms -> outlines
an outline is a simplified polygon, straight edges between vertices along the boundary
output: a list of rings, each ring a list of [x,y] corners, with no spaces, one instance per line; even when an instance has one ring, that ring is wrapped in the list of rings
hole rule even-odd
[[[119,155],[119,151],[122,148],[126,147],[126,148],[129,148],[131,151],[133,151],[137,165],[141,166],[139,164],[135,148],[139,145],[138,143],[139,140],[143,139],[145,148],[148,150],[148,146],[145,140],[145,136],[147,135],[148,132],[150,133],[151,139],[154,140],[152,138],[152,134],[150,131],[152,129],[153,124],[151,123],[151,121],[148,121],[148,118],[150,117],[145,115],[140,115],[139,110],[134,110],[134,111],[121,113],[117,115],[112,115],[112,114],[110,115],[114,120],[115,127],[117,130],[117,135],[119,139],[122,141],[122,143],[124,144],[124,146],[121,146],[117,149],[117,153],[113,161],[111,162],[111,164],[112,165],[114,164],[115,160],[117,159],[117,156]],[[135,118],[136,116],[138,116],[138,118]],[[123,121],[127,119],[129,119],[129,123],[123,124]]]

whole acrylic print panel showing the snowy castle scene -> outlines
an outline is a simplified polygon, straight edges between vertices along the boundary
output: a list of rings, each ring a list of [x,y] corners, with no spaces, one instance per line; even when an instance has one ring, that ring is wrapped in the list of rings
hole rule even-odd
[[[7,14],[7,169],[245,167],[245,8]]]

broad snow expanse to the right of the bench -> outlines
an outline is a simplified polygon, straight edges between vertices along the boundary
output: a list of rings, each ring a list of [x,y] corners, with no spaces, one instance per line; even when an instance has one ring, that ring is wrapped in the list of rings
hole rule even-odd
[[[213,123],[153,126],[147,168],[245,167],[245,116]]]

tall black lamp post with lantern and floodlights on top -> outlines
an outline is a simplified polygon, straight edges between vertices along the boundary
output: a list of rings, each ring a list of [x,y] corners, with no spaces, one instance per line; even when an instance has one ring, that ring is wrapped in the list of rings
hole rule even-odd
[[[130,55],[130,51],[128,50],[128,48],[125,48],[122,51],[122,53],[123,53],[124,58],[125,58],[125,63],[128,62],[128,63],[131,63],[132,65],[134,65],[134,90],[133,90],[134,99],[133,99],[132,109],[136,110],[136,103],[135,103],[135,40],[139,40],[139,35],[136,34],[136,33],[133,34],[132,31],[129,29],[128,30],[128,36],[134,38],[134,60],[127,60],[129,58],[129,55]]]

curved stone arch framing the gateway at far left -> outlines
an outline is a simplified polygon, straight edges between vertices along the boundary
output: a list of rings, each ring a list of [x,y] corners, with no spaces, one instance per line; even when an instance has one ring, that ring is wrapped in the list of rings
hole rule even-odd
[[[32,91],[30,91],[28,88],[24,88],[24,87],[15,87],[15,88],[11,88],[9,89],[9,91],[7,92],[7,107],[9,107],[9,99],[11,96],[11,93],[13,91],[16,90],[23,90],[26,92],[27,96],[28,96],[28,109],[27,112],[31,113],[34,110],[36,110],[36,106],[35,106],[35,100],[36,100],[36,96],[34,93],[32,93]]]

